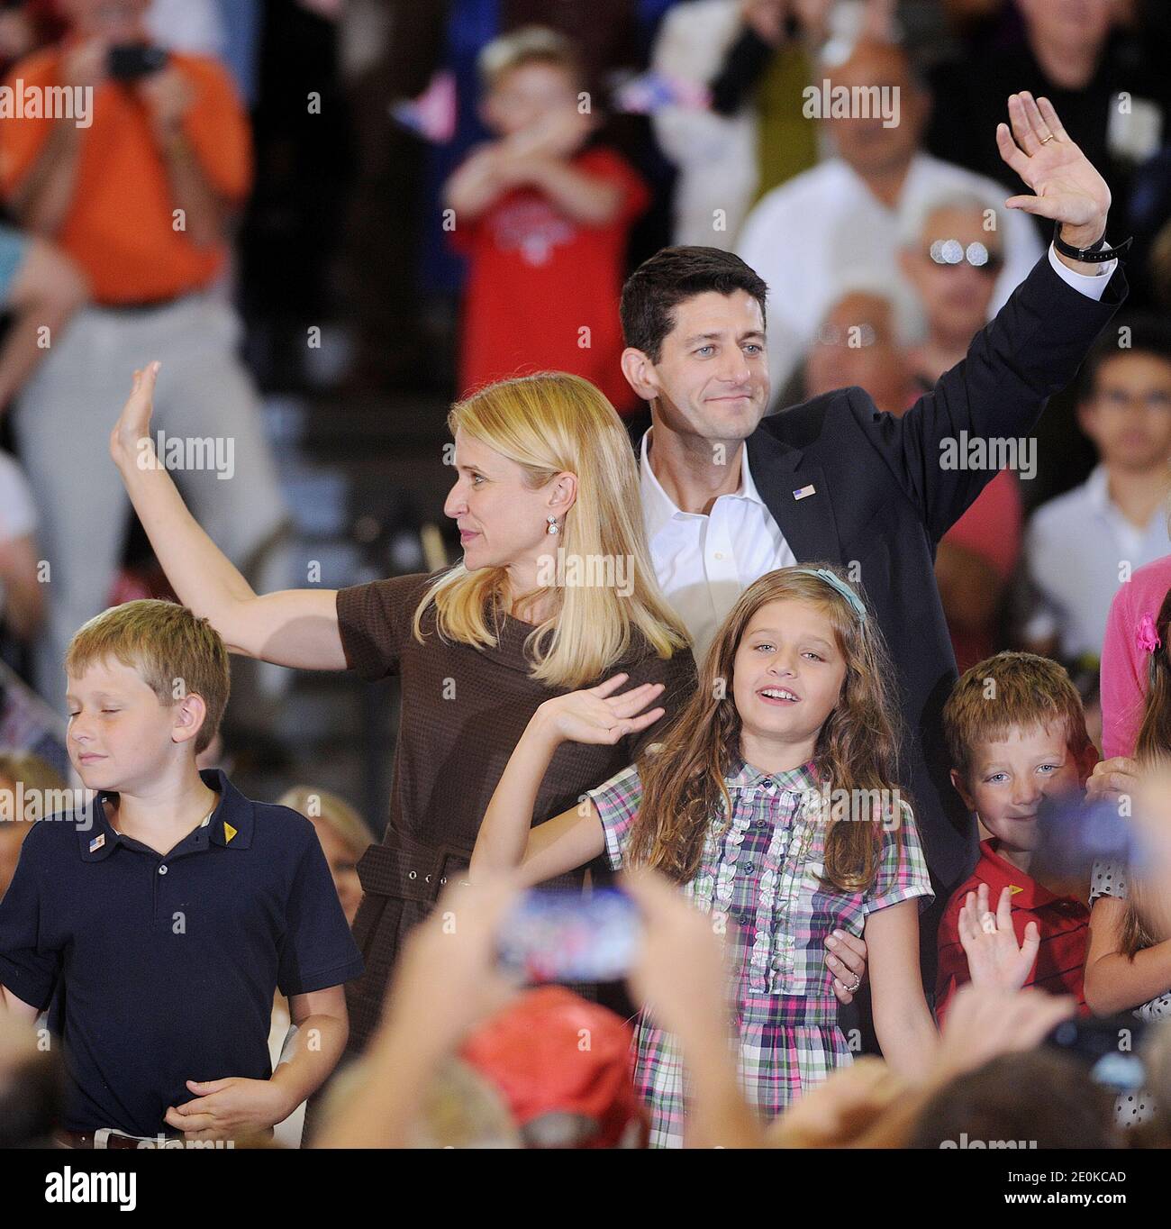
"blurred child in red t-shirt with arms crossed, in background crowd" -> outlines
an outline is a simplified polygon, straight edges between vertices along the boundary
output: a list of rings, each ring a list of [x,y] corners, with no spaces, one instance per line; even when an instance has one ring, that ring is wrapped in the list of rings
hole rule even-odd
[[[458,392],[552,369],[629,412],[618,300],[627,237],[650,193],[617,152],[586,147],[595,117],[565,38],[527,27],[489,43],[479,63],[482,114],[499,139],[444,188],[452,246],[471,262]]]

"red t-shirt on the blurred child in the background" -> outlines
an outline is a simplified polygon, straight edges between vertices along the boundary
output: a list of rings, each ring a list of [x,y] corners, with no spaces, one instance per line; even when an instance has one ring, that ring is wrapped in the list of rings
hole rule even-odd
[[[574,221],[528,186],[500,197],[472,222],[456,219],[452,246],[471,262],[461,395],[506,376],[554,370],[591,380],[619,412],[639,404],[619,365],[618,299],[627,236],[650,192],[613,150],[585,150],[570,165],[622,186],[622,208],[605,226]]]

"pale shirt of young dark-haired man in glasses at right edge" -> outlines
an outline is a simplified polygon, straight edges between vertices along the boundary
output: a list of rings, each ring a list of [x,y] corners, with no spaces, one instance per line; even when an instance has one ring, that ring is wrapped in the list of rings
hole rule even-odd
[[[1042,504],[1028,522],[1025,565],[1037,608],[1025,627],[1027,639],[1055,634],[1063,658],[1097,658],[1118,586],[1169,549],[1167,509],[1156,509],[1142,527],[1133,525],[1111,500],[1100,465],[1080,487]]]

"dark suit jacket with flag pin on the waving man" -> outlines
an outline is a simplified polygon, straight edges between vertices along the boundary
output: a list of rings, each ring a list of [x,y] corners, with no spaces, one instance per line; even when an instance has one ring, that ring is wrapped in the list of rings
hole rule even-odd
[[[877,613],[906,726],[899,784],[912,796],[938,903],[976,865],[977,841],[949,778],[942,707],[956,662],[935,546],[997,473],[944,468],[944,449],[961,433],[1027,438],[1126,294],[1117,269],[1095,302],[1046,254],[967,358],[902,418],[881,413],[861,388],[843,388],[764,418],[747,440],[752,478],[799,562],[854,564]],[[794,498],[809,485],[812,495]]]

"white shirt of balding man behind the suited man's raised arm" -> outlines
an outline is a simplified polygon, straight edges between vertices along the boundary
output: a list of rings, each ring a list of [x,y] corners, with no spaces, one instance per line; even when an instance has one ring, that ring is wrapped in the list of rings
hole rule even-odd
[[[909,218],[920,202],[955,192],[974,193],[998,205],[1010,195],[993,179],[917,154],[893,210],[839,157],[783,183],[757,204],[740,232],[736,252],[769,286],[768,360],[774,397],[834,301],[853,285],[883,288],[906,333],[918,307],[898,268],[902,230],[913,225]],[[998,218],[1004,227],[1005,263],[989,304],[989,320],[1042,252],[1028,214],[999,209]]]

